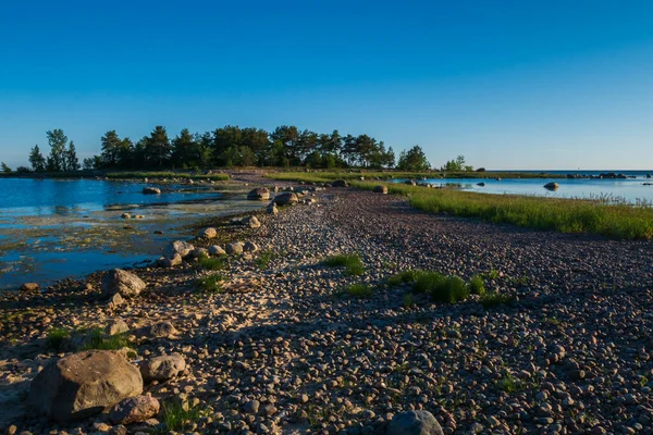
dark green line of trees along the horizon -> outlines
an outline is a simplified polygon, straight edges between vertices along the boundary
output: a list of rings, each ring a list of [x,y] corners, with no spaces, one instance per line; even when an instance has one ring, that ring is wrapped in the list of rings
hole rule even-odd
[[[187,128],[170,137],[165,127],[156,126],[136,142],[109,130],[100,138],[101,152],[79,164],[75,145],[62,129],[47,132],[50,153],[45,157],[36,145],[29,152],[34,172],[75,172],[84,170],[206,170],[233,166],[306,166],[313,169],[398,169],[428,171],[431,164],[419,146],[399,153],[368,135],[341,135],[300,130],[282,125],[272,132],[226,125],[211,132],[190,133]],[[471,170],[460,163],[447,169]],[[26,170],[26,169],[23,169]]]

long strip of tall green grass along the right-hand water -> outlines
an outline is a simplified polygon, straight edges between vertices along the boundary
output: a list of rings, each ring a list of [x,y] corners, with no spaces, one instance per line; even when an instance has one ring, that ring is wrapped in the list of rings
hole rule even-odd
[[[478,173],[477,175],[481,176]],[[366,176],[365,182],[356,178]],[[337,178],[349,179],[358,188],[371,190],[379,182],[368,178],[420,178],[433,177],[435,173],[362,173],[362,172],[317,172],[317,173],[274,173],[275,179],[330,182]],[[451,174],[447,174],[449,176]],[[472,175],[472,173],[465,173]],[[505,177],[497,173],[482,176]],[[526,177],[525,174],[519,174]],[[539,175],[542,176],[542,175]],[[457,189],[428,189],[405,184],[385,183],[389,192],[409,198],[410,206],[430,212],[448,213],[460,217],[478,217],[494,223],[506,223],[522,227],[559,233],[600,234],[617,239],[653,238],[653,208],[642,203],[632,206],[614,198],[569,199],[544,198],[521,195],[490,195],[461,191]]]

